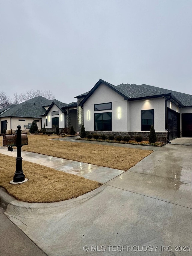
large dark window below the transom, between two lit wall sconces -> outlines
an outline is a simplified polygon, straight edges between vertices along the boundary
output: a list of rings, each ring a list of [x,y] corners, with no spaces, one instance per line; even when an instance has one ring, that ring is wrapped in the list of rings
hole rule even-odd
[[[95,114],[95,131],[112,131],[112,112]]]

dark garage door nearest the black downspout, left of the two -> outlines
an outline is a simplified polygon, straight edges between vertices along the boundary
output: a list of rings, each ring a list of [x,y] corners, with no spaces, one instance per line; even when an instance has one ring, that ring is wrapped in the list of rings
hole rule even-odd
[[[170,140],[179,137],[179,113],[168,108],[168,130],[170,131]]]

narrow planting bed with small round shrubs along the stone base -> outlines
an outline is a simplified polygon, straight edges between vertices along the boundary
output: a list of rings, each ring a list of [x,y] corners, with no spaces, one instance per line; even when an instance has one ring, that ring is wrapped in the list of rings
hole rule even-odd
[[[110,142],[110,143],[123,143],[123,144],[134,144],[134,145],[142,145],[142,146],[154,146],[154,147],[162,147],[164,146],[165,142],[155,142],[155,143],[150,143],[149,141],[141,141],[141,142],[138,142],[136,140],[130,140],[128,142],[126,141],[123,141],[123,140],[120,140],[120,141],[117,141],[117,140],[102,140],[102,139],[88,139],[88,138],[77,138],[76,140],[90,140],[90,141],[100,141],[100,142]]]

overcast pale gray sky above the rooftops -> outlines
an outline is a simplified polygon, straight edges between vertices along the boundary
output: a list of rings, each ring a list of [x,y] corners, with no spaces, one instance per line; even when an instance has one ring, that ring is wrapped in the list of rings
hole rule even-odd
[[[1,91],[69,103],[99,79],[192,93],[192,1],[1,1]]]

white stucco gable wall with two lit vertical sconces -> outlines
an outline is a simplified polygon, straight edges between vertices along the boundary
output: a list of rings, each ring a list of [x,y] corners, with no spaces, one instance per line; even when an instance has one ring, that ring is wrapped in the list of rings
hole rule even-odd
[[[112,102],[112,110],[94,111],[94,104]],[[112,130],[127,131],[129,116],[128,103],[124,97],[101,84],[83,105],[84,126],[86,131],[94,131],[94,114],[112,112]]]

